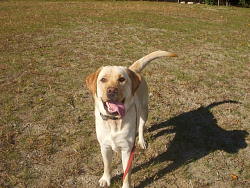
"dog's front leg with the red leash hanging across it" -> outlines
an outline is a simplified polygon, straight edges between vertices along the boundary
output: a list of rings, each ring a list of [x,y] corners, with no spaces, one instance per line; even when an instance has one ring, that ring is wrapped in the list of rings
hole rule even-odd
[[[131,151],[127,151],[127,150],[122,151],[123,173],[125,173],[125,170],[127,168],[130,152]],[[132,167],[129,169],[128,174],[123,181],[122,188],[131,188],[132,187],[131,186],[131,169],[132,169]]]

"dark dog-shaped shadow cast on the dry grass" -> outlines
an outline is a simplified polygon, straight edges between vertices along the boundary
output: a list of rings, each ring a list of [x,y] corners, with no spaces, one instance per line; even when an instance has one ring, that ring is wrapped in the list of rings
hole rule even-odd
[[[152,136],[153,139],[173,132],[175,133],[175,137],[170,143],[167,143],[166,152],[134,167],[133,173],[164,161],[172,161],[172,163],[168,166],[163,166],[162,169],[141,181],[136,187],[146,187],[180,166],[196,161],[216,150],[237,153],[239,149],[246,148],[245,138],[248,132],[222,129],[218,126],[217,120],[210,112],[210,109],[213,107],[225,103],[238,102],[228,100],[212,103],[206,107],[200,107],[196,110],[175,116],[167,121],[152,125],[148,129],[149,132],[153,133],[161,129]],[[170,126],[173,129],[170,129]],[[117,178],[115,177],[115,179]]]

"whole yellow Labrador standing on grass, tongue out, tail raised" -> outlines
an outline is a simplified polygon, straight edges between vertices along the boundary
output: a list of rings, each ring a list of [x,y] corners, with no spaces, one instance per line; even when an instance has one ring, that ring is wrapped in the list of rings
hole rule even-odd
[[[147,147],[143,126],[148,117],[148,88],[140,72],[150,61],[164,56],[174,57],[176,54],[155,51],[137,60],[129,68],[101,67],[86,79],[95,101],[96,134],[104,163],[104,173],[99,180],[101,187],[110,186],[113,150],[121,152],[125,171],[137,132],[140,147]],[[122,187],[131,187],[131,170]]]

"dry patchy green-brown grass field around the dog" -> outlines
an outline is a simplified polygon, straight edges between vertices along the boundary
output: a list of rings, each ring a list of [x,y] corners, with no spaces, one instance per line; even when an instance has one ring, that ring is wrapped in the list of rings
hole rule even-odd
[[[250,10],[164,2],[0,1],[0,187],[98,187],[85,77],[155,50],[135,187],[250,187]],[[111,187],[121,186],[113,161]]]

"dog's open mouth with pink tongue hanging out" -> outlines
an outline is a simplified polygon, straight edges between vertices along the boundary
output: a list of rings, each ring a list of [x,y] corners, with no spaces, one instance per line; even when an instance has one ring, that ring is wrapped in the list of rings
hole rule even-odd
[[[104,109],[107,111],[108,114],[112,116],[121,116],[123,117],[125,115],[125,98],[121,101],[102,101]]]

